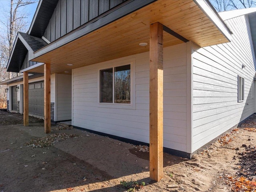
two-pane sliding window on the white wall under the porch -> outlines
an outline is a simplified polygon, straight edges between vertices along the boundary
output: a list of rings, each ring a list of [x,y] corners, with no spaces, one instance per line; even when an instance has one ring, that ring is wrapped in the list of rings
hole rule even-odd
[[[131,103],[131,65],[100,70],[100,103]]]

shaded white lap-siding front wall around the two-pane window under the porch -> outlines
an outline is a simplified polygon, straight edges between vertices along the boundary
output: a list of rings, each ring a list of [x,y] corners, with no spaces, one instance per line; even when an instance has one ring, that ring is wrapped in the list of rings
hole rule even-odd
[[[133,106],[99,104],[99,70],[130,62]],[[164,48],[164,147],[184,152],[188,150],[186,78],[187,44]],[[74,69],[72,112],[74,126],[148,143],[149,52]]]

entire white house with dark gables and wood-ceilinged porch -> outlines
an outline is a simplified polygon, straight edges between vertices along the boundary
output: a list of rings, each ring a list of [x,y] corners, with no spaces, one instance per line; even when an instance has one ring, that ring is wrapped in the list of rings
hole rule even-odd
[[[44,81],[46,132],[50,118],[71,119],[149,144],[158,181],[163,150],[190,158],[254,114],[255,11],[219,15],[208,0],[40,0],[7,66],[24,78],[2,82],[9,110],[23,97],[27,125],[30,83]]]

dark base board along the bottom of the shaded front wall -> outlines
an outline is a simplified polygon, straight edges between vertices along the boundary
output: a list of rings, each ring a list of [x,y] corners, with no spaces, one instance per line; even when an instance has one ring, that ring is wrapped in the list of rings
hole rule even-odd
[[[87,132],[94,133],[94,134],[97,134],[97,135],[107,136],[109,138],[116,139],[116,140],[119,140],[119,141],[122,141],[122,142],[130,143],[130,144],[134,144],[134,145],[149,146],[149,144],[145,143],[145,142],[140,142],[140,141],[136,141],[136,140],[132,140],[132,139],[127,139],[127,138],[124,138],[124,137],[110,135],[110,134],[106,134],[106,133],[102,133],[102,132],[98,132],[98,131],[93,131],[93,130],[90,130],[90,129],[81,128],[81,127],[77,127],[77,126],[73,126],[73,127],[76,128],[76,129],[87,131]],[[175,149],[170,149],[170,148],[164,147],[164,152],[168,153],[168,154],[171,154],[171,155],[174,155],[174,156],[179,156],[179,157],[182,157],[182,158],[191,158],[189,153],[179,151],[179,150],[175,150]]]

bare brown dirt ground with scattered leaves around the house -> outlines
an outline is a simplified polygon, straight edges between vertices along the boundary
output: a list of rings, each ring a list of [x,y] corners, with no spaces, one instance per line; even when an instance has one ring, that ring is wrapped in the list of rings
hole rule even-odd
[[[120,182],[131,180],[145,182],[142,192],[253,192],[255,122],[253,115],[191,160],[164,154],[156,183],[146,147],[66,126],[46,135],[42,120],[30,117],[24,127],[21,114],[0,110],[0,192],[124,192]]]

